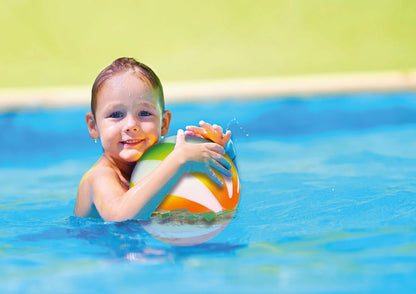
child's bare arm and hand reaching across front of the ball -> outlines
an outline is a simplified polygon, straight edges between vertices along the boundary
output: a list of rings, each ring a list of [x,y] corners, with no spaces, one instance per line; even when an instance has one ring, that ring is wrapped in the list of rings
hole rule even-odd
[[[91,181],[93,202],[104,220],[147,219],[184,172],[203,172],[222,185],[214,170],[231,176],[224,152],[216,143],[186,143],[184,132],[178,131],[175,149],[128,191],[114,169],[101,168]]]

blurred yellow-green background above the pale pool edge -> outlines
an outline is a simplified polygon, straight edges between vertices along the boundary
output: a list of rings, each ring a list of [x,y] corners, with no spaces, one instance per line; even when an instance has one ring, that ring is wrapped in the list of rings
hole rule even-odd
[[[163,81],[416,68],[415,0],[1,0],[0,88],[91,85],[121,56]]]

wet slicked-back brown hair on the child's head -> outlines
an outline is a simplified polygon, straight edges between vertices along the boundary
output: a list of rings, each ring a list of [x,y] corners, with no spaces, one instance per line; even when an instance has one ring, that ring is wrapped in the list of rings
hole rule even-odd
[[[157,90],[159,97],[158,102],[162,109],[162,114],[165,111],[165,99],[163,96],[162,83],[157,75],[147,65],[138,62],[134,58],[121,57],[113,61],[109,66],[104,68],[94,81],[91,91],[91,112],[95,117],[95,111],[97,109],[97,95],[104,83],[113,76],[132,71],[141,80],[149,82],[153,89]]]

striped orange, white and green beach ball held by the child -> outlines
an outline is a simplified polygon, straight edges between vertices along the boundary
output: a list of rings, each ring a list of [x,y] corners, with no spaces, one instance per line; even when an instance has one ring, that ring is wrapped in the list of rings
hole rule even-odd
[[[186,136],[187,143],[207,140]],[[175,148],[176,136],[168,137],[150,147],[137,162],[130,187],[148,175]],[[217,185],[200,172],[184,173],[149,220],[139,220],[142,227],[156,239],[177,246],[191,246],[218,235],[231,221],[240,198],[237,169],[231,158],[231,177],[216,172],[223,182]]]

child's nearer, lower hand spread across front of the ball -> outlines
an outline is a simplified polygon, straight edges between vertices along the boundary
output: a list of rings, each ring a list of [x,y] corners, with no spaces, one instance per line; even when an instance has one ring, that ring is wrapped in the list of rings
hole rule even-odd
[[[185,142],[185,133],[178,130],[174,152],[183,161],[185,172],[202,172],[222,186],[214,170],[230,177],[231,164],[224,158],[224,147],[216,143],[190,144]]]

